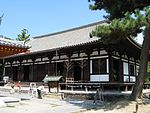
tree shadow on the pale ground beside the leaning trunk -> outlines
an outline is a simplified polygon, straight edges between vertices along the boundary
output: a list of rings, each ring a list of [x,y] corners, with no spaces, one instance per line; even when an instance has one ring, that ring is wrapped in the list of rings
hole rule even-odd
[[[96,111],[99,109],[103,109],[104,111],[109,111],[113,109],[121,109],[133,103],[129,101],[129,97],[120,97],[120,98],[112,97],[111,100],[110,99],[107,101],[97,100],[95,103],[94,103],[94,100],[80,100],[80,99],[65,99],[65,101],[67,103],[80,106],[83,109],[86,109],[87,111],[88,110]],[[136,102],[134,103],[136,105]]]

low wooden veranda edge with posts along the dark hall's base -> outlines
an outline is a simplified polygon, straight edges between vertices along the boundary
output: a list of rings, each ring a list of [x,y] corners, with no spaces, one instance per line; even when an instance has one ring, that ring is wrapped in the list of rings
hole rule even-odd
[[[101,82],[67,82],[59,83],[61,90],[71,91],[96,91],[98,88],[105,90],[129,91],[134,83],[101,83]]]

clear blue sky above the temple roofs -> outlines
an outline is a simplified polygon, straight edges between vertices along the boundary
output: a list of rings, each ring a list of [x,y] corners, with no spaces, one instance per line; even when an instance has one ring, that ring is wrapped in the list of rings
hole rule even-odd
[[[104,11],[91,11],[89,4],[88,0],[1,0],[0,34],[15,39],[25,28],[34,37],[103,20]]]

